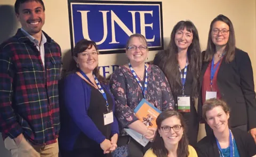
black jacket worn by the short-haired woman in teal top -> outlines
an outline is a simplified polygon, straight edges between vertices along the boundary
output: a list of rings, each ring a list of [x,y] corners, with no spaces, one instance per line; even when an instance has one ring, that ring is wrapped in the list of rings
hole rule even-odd
[[[249,133],[240,129],[231,129],[237,149],[241,157],[251,157],[256,154],[256,145]],[[214,134],[206,136],[195,146],[198,157],[219,157],[220,153]]]

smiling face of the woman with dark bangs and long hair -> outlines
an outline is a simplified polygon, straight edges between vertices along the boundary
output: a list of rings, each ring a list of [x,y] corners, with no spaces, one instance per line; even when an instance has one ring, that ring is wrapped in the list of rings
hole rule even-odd
[[[178,47],[178,51],[187,50],[193,41],[193,33],[188,31],[186,28],[183,30],[177,30],[174,38],[175,44]]]

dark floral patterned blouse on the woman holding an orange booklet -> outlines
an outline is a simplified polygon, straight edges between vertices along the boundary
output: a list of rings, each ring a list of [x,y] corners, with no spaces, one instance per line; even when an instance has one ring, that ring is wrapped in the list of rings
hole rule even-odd
[[[140,82],[144,87],[144,81],[140,80]],[[115,115],[119,122],[119,127],[123,129],[138,120],[133,110],[142,100],[143,93],[131,70],[124,66],[113,72],[110,79],[110,89],[116,101]],[[149,64],[148,84],[145,95],[146,100],[160,111],[174,108],[169,83],[162,70],[156,65]]]

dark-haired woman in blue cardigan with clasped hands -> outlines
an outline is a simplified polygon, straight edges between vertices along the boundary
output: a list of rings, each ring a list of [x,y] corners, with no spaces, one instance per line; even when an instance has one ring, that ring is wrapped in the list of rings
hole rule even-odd
[[[118,123],[114,97],[98,70],[95,42],[82,39],[74,47],[69,74],[60,81],[61,156],[112,156]]]

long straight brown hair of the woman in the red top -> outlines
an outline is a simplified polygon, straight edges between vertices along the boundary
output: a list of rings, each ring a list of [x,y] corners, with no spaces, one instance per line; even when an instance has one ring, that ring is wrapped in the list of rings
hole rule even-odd
[[[207,41],[207,48],[206,48],[205,55],[204,55],[204,61],[205,62],[212,61],[212,57],[213,57],[214,53],[216,52],[215,44],[212,42],[212,27],[213,27],[213,24],[217,21],[224,22],[229,26],[229,38],[228,38],[228,43],[225,48],[226,63],[229,63],[229,62],[233,61],[235,58],[235,49],[236,49],[235,30],[234,30],[233,24],[229,20],[229,18],[222,14],[218,15],[211,22],[209,35],[208,35],[208,41]]]

